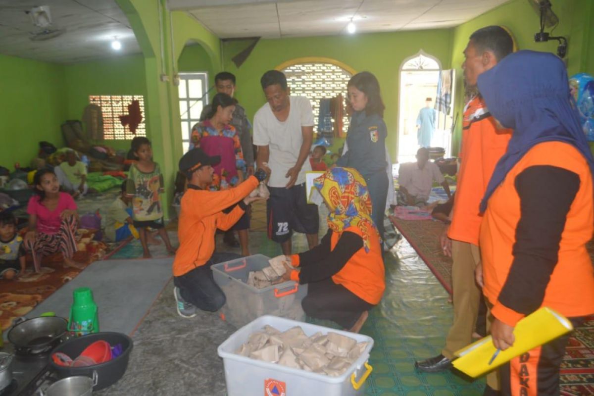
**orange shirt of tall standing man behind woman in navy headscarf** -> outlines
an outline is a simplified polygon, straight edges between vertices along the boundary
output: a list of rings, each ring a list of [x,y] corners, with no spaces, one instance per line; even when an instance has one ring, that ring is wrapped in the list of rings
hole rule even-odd
[[[510,138],[511,129],[497,128],[482,96],[475,96],[466,104],[460,149],[462,161],[448,230],[451,239],[479,244],[481,199]]]

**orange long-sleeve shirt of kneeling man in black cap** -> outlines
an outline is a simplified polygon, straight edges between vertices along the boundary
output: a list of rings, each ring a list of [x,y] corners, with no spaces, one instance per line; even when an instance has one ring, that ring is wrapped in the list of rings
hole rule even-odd
[[[179,248],[173,260],[173,276],[184,275],[206,264],[214,252],[217,228],[230,229],[244,214],[240,205],[229,213],[222,211],[247,197],[257,186],[258,179],[250,176],[239,186],[223,191],[188,188],[181,200]]]

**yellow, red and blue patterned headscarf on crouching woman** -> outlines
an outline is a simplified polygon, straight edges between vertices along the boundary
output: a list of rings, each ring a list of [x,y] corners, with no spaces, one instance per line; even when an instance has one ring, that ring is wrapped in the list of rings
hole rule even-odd
[[[330,209],[328,227],[334,232],[354,226],[363,233],[363,246],[369,252],[369,238],[375,226],[371,220],[371,198],[365,179],[353,168],[335,167],[314,180]]]

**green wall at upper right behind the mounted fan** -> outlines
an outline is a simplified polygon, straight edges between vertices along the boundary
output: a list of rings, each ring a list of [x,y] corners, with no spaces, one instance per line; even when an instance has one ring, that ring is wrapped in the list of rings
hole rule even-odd
[[[554,30],[555,36],[565,36],[568,40],[568,52],[565,56],[568,74],[573,75],[579,71],[594,73],[594,29],[590,28],[593,20],[591,0],[552,0],[552,9],[559,17],[559,24]],[[451,65],[456,68],[456,106],[454,111],[462,116],[463,75],[462,62],[463,50],[468,38],[473,31],[489,26],[500,25],[507,27],[516,40],[519,49],[557,52],[558,42],[534,42],[534,33],[539,30],[539,16],[525,0],[513,0],[500,7],[492,9],[473,20],[468,21],[453,31],[453,53]],[[547,29],[546,31],[550,31]],[[453,148],[457,151],[462,131],[461,122],[454,132]]]

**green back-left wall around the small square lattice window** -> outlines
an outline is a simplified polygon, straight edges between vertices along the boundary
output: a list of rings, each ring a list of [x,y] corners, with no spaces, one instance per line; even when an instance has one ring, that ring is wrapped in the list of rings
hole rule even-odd
[[[141,54],[67,65],[65,82],[68,119],[82,118],[90,95],[143,95],[146,101],[144,57]],[[147,135],[150,138],[150,131]],[[130,148],[129,140],[106,140],[103,143],[116,149]]]

